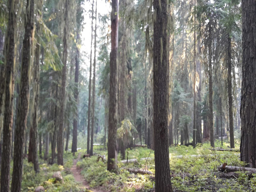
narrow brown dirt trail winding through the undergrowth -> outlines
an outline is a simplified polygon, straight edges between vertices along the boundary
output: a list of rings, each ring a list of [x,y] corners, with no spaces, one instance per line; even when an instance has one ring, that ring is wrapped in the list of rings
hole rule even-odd
[[[84,179],[84,177],[81,175],[81,169],[79,169],[76,166],[76,163],[78,162],[78,160],[81,158],[81,152],[78,154],[77,159],[73,160],[73,166],[71,167],[70,171],[72,172],[72,174],[74,175],[74,178],[77,182],[80,183],[79,185],[79,189],[86,191],[86,189],[88,189],[88,192],[102,192],[101,190],[97,190],[97,189],[90,189],[90,185],[89,183]],[[90,190],[89,190],[90,189]]]

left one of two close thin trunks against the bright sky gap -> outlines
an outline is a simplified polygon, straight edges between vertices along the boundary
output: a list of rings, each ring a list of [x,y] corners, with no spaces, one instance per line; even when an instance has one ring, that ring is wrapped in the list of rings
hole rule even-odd
[[[94,0],[93,0],[94,5]],[[90,153],[90,110],[91,110],[91,79],[92,79],[92,45],[93,45],[93,5],[92,5],[92,33],[91,33],[91,51],[90,51],[90,76],[89,76],[89,99],[88,99],[88,124],[87,124],[87,154]]]

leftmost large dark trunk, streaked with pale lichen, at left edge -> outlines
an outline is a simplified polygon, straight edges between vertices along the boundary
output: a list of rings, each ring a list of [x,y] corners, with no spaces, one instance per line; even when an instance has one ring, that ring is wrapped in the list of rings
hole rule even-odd
[[[15,31],[16,31],[16,5],[17,0],[8,1],[8,25],[5,40],[5,69],[6,78],[1,77],[1,98],[0,108],[2,107],[2,96],[5,93],[4,101],[4,120],[3,120],[3,151],[1,162],[0,192],[9,192],[10,183],[10,161],[11,161],[11,141],[12,141],[12,116],[13,116],[13,91],[14,91],[14,69],[15,69]],[[3,70],[1,70],[3,71]],[[3,85],[3,89],[2,89]],[[5,91],[4,91],[5,90]]]

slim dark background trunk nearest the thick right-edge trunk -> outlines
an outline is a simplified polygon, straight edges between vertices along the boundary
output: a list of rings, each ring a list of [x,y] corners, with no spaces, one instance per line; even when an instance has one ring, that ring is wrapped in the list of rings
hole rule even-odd
[[[235,148],[234,122],[233,122],[233,97],[232,97],[232,64],[231,64],[231,38],[227,38],[227,89],[228,89],[228,112],[230,125],[230,148]]]

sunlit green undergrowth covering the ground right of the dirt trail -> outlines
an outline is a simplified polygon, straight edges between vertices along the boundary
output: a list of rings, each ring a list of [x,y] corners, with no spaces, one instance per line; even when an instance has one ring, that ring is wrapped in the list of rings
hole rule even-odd
[[[239,149],[239,142],[235,143]],[[210,144],[204,143],[192,146],[172,146],[169,148],[170,169],[172,174],[172,187],[176,192],[194,191],[220,191],[220,192],[244,192],[256,190],[256,178],[249,180],[245,173],[239,177],[227,179],[221,178],[218,166],[227,163],[230,166],[245,166],[240,161],[239,152],[235,151],[212,151]],[[229,148],[229,143],[215,141],[215,148]],[[128,150],[128,159],[136,158],[138,163],[118,163],[119,172],[108,172],[107,163],[96,162],[97,154],[105,155],[107,151],[103,146],[96,146],[93,157],[80,160],[77,166],[82,169],[81,174],[90,183],[92,188],[101,187],[105,191],[154,191],[154,175],[133,174],[127,171],[128,168],[147,169],[154,174],[154,151],[148,148],[134,148]],[[86,153],[85,150],[83,153]],[[181,157],[182,155],[182,157]],[[141,158],[148,160],[141,160]],[[127,151],[126,157],[127,158]],[[121,162],[118,156],[118,162]]]

